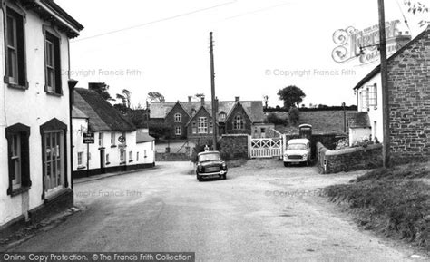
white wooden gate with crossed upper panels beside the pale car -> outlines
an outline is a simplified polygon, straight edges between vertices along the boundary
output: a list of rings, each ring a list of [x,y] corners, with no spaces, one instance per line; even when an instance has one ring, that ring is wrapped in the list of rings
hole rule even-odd
[[[250,139],[249,138],[249,157],[257,158],[272,158],[281,157],[283,150],[283,139],[280,138],[265,138],[265,139]]]

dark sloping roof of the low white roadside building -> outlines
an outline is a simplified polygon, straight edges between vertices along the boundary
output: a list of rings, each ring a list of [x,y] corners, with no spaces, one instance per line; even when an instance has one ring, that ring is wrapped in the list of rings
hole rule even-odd
[[[132,122],[125,119],[111,103],[93,90],[75,88],[74,107],[90,118],[90,131],[135,131]]]

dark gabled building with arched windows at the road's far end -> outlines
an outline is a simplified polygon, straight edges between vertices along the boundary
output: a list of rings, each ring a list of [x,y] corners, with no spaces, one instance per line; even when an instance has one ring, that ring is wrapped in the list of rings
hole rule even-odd
[[[251,134],[264,122],[261,101],[215,101],[217,115],[212,116],[212,103],[204,97],[200,102],[153,102],[150,106],[151,121],[172,127],[171,137],[199,140],[217,134]],[[259,130],[260,131],[260,130]]]

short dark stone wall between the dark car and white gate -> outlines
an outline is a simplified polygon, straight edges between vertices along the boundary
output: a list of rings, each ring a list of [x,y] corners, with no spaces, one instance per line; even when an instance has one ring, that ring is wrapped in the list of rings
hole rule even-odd
[[[220,138],[220,153],[224,160],[248,159],[247,134],[223,135]]]

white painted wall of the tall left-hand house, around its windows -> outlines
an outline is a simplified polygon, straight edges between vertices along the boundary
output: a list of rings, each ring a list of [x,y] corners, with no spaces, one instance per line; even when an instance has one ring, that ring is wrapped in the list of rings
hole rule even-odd
[[[26,70],[28,90],[15,90],[0,82],[0,226],[13,218],[26,215],[29,209],[34,209],[41,204],[43,193],[43,170],[42,170],[42,137],[39,128],[46,121],[57,118],[69,126],[69,92],[68,75],[63,74],[62,84],[64,95],[56,97],[44,92],[44,34],[42,22],[39,16],[27,13],[25,23],[25,47],[26,47]],[[0,73],[5,75],[5,35],[4,35],[4,13],[0,12],[0,50],[1,62]],[[68,38],[61,35],[61,67],[62,72],[69,71]],[[31,189],[15,197],[7,196],[8,167],[7,167],[7,141],[5,139],[5,128],[15,123],[23,123],[30,126],[30,176],[32,180]],[[70,139],[68,128],[67,162],[70,163]],[[71,181],[72,168],[67,165],[67,180]],[[70,187],[69,183],[69,187]]]

